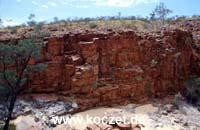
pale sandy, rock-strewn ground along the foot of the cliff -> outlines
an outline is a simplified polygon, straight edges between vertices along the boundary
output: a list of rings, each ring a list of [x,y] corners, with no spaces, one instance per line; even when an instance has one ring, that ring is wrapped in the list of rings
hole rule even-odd
[[[19,105],[21,104],[21,105]],[[23,104],[23,105],[22,105]],[[26,104],[26,105],[25,105]],[[18,106],[28,107],[31,103],[18,101]],[[17,130],[198,130],[200,129],[200,112],[196,107],[181,102],[179,108],[171,104],[147,104],[127,105],[115,108],[97,108],[72,115],[83,117],[87,114],[92,117],[100,117],[99,123],[89,124],[54,124],[52,116],[66,114],[72,108],[72,104],[64,104],[50,101],[38,101],[36,105],[31,104],[29,113],[20,115],[14,121]],[[74,105],[77,107],[77,105]],[[102,110],[101,110],[102,109]],[[22,109],[23,110],[23,109]],[[48,111],[49,110],[49,111]],[[106,117],[106,118],[103,118]],[[32,122],[30,124],[30,122]],[[79,125],[79,127],[78,127]]]

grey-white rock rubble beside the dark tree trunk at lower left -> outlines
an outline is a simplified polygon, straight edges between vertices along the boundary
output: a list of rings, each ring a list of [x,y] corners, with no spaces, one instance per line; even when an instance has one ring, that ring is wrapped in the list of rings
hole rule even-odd
[[[5,113],[5,105],[0,105],[0,113]],[[35,100],[23,101],[17,100],[13,110],[12,118],[16,119],[20,116],[33,115],[36,122],[40,122],[44,128],[52,128],[56,125],[52,122],[52,118],[71,113],[76,110],[78,105],[73,103],[66,103],[63,101],[50,100]],[[3,114],[0,115],[0,120],[3,120]]]

